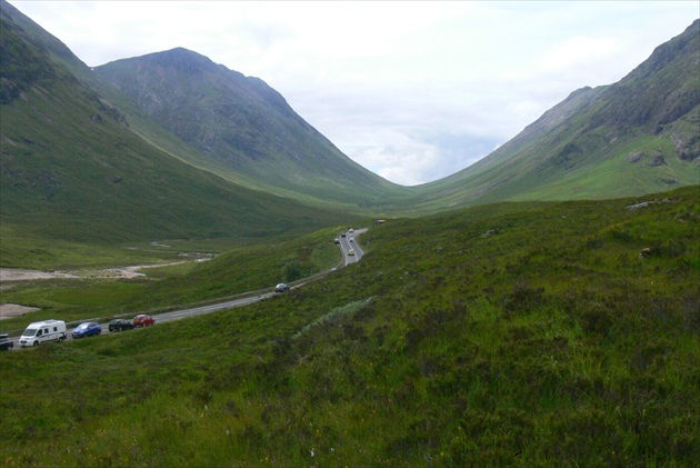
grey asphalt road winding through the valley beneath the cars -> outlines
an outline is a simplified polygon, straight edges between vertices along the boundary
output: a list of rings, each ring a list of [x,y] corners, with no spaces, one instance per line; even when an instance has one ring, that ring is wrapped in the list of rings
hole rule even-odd
[[[364,252],[362,251],[362,248],[357,243],[354,237],[361,235],[362,232],[367,231],[367,229],[358,229],[354,232],[346,232],[346,237],[340,236],[338,239],[340,241],[340,250],[342,251],[342,263],[339,265],[338,267],[331,268],[329,271],[333,271],[337,270],[338,268],[342,268],[346,267],[350,263],[356,263],[358,262],[362,256],[364,255]],[[350,255],[350,251],[353,251],[354,255]],[[303,281],[303,282],[299,282],[297,285],[291,286],[291,288],[300,288],[303,285],[306,285],[308,282]],[[247,297],[242,297],[239,299],[233,299],[233,300],[228,300],[224,302],[219,302],[219,303],[212,303],[212,305],[208,305],[208,306],[200,306],[200,307],[194,307],[194,308],[190,308],[190,309],[182,309],[182,310],[176,310],[172,312],[163,312],[163,313],[158,313],[158,315],[152,315],[152,317],[156,319],[156,325],[158,323],[164,323],[168,321],[174,321],[174,320],[180,320],[183,319],[186,317],[194,317],[194,316],[199,316],[202,313],[211,313],[211,312],[216,312],[217,310],[222,310],[222,309],[232,309],[234,307],[242,307],[242,306],[249,306],[251,303],[258,302],[260,300],[267,299],[271,296],[274,296],[277,292],[260,292],[260,293],[256,293],[256,292],[251,292],[251,296],[247,296]],[[241,295],[244,296],[246,293]],[[134,312],[133,316],[136,317],[138,313],[142,313],[142,312]],[[101,321],[101,320],[86,320],[86,321]],[[109,335],[109,328],[107,326],[107,323],[101,323],[102,325],[102,335]],[[147,327],[148,328],[148,327]],[[66,341],[71,341],[73,338],[70,335],[72,328],[69,328],[67,330],[67,339]],[[117,331],[117,332],[123,332],[123,331]],[[90,338],[81,338],[81,339],[94,339],[96,337],[90,337]],[[14,350],[18,349],[22,349],[19,346],[19,337],[12,337],[12,342],[14,343]]]

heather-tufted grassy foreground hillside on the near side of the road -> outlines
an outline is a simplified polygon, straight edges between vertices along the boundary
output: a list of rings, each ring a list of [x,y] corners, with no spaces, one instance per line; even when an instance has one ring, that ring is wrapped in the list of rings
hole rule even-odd
[[[691,187],[390,221],[273,300],[3,354],[0,462],[694,466],[699,220]]]

